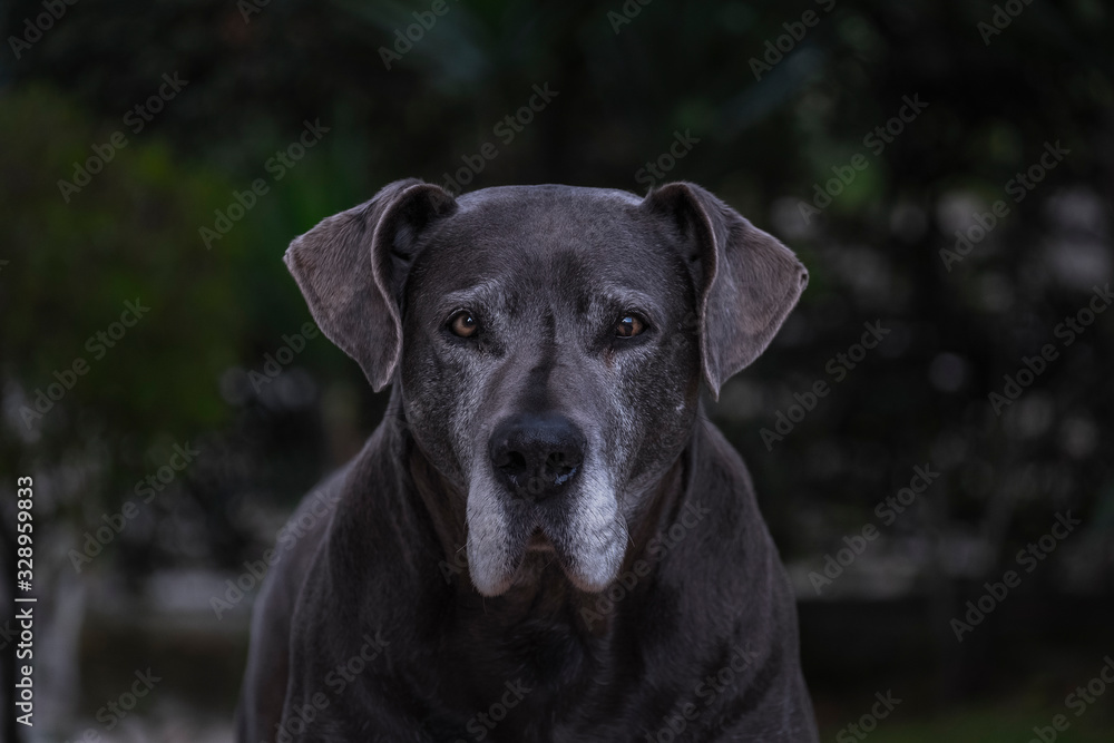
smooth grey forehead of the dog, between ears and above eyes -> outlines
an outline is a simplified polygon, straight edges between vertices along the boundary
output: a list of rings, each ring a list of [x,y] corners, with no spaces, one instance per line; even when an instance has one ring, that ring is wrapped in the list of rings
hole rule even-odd
[[[501,284],[537,296],[674,293],[682,264],[634,194],[568,186],[487,188],[430,231],[421,283],[439,293]]]

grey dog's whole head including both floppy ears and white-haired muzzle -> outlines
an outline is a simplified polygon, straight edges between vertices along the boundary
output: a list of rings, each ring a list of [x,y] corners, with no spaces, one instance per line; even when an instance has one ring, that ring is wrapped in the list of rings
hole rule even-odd
[[[286,264],[373,388],[401,385],[418,447],[463,500],[447,508],[487,596],[535,554],[606,588],[691,437],[701,383],[719,394],[808,281],[685,183],[453,198],[400,180],[295,239]]]

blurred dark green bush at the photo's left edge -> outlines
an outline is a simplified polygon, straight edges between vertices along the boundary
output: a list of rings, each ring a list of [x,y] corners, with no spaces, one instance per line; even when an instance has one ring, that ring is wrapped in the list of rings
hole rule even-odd
[[[18,405],[0,429],[9,451],[18,442],[57,457],[86,439],[147,442],[228,418],[214,380],[237,356],[246,313],[236,276],[214,270],[197,239],[227,186],[159,141],[115,149],[115,130],[43,87],[0,96],[0,138],[19,143],[0,149],[0,359]],[[67,203],[57,184],[72,179],[75,163],[104,162],[90,143],[111,154]],[[229,235],[225,260],[243,237]],[[134,327],[114,340],[128,302],[149,310],[138,321],[129,313]],[[88,372],[74,379],[78,359]],[[61,389],[56,372],[72,389],[30,414],[46,407],[36,408],[38,391]]]

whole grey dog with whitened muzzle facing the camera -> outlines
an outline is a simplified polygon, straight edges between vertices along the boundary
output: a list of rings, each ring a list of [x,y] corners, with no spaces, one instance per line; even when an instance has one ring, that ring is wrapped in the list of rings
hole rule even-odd
[[[291,519],[240,741],[818,740],[784,568],[702,409],[797,304],[790,250],[690,183],[408,179],[285,263],[392,387]]]

